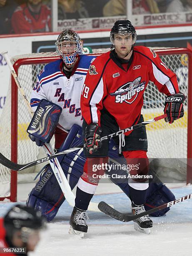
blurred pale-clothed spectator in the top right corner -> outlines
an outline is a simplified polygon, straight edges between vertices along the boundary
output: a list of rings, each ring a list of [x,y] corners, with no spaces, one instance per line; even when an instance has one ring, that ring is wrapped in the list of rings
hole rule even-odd
[[[167,6],[167,13],[191,12],[192,0],[172,0]]]

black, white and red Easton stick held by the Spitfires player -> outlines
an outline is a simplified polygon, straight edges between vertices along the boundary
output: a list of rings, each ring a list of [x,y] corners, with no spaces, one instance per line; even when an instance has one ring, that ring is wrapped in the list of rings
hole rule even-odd
[[[137,128],[140,128],[141,125],[147,125],[148,123],[154,123],[158,120],[161,120],[163,118],[166,118],[167,117],[167,114],[165,115],[160,115],[160,116],[157,116],[155,118],[152,118],[150,120],[147,120],[147,121],[144,121],[142,123],[139,123],[139,124],[136,124],[136,125],[133,125],[131,126],[130,128],[126,128],[126,129],[123,129],[123,130],[120,130],[118,131],[117,133],[112,133],[112,134],[109,134],[107,136],[104,136],[102,138],[100,138],[101,141],[104,141],[104,140],[107,140],[108,138],[113,138],[121,133],[125,133],[126,131],[132,131],[132,130],[135,130]],[[0,153],[0,164],[6,166],[7,168],[9,169],[12,169],[14,171],[21,171],[21,170],[24,170],[24,169],[27,169],[29,167],[32,167],[32,166],[35,166],[37,164],[41,164],[43,162],[46,162],[46,161],[49,161],[51,159],[54,159],[56,158],[57,156],[62,156],[64,154],[67,154],[67,153],[70,153],[72,151],[76,151],[82,147],[85,147],[85,144],[84,145],[80,145],[79,147],[77,148],[69,148],[65,151],[62,151],[62,152],[59,152],[59,153],[56,153],[56,154],[52,154],[52,155],[48,155],[47,157],[45,158],[41,158],[41,159],[38,159],[36,161],[33,161],[33,162],[30,162],[30,163],[27,163],[27,164],[16,164],[12,161],[10,161],[9,159],[7,159],[5,156],[3,156],[1,153]]]

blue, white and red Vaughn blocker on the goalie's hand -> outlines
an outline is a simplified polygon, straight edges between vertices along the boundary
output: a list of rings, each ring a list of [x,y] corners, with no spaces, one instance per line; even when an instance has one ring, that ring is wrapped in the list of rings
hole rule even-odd
[[[62,108],[57,104],[45,99],[40,101],[27,128],[30,139],[35,141],[37,146],[50,143],[61,112]]]

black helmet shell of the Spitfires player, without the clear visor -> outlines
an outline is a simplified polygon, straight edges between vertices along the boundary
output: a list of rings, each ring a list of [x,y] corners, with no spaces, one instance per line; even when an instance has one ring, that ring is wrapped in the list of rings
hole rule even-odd
[[[117,20],[115,22],[110,32],[110,40],[112,44],[114,44],[115,34],[121,34],[121,35],[131,34],[132,44],[135,44],[137,39],[137,33],[135,31],[134,26],[130,22],[130,20]]]

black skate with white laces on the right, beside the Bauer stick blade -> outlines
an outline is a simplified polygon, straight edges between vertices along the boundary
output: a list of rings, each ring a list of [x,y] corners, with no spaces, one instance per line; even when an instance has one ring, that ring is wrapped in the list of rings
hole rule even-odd
[[[144,205],[134,205],[132,203],[132,214],[137,215],[141,212],[145,212]],[[145,215],[133,221],[135,222],[134,223],[135,230],[145,234],[151,233],[150,228],[152,228],[153,223],[152,223],[152,220],[149,218],[149,215]]]

